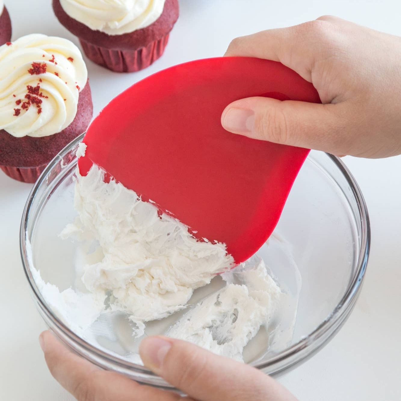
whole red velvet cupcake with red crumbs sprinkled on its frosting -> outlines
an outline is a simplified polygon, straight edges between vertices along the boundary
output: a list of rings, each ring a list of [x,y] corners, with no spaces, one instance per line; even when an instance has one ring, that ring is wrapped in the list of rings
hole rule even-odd
[[[0,81],[0,168],[35,182],[92,118],[85,63],[67,39],[22,36],[0,47]]]

